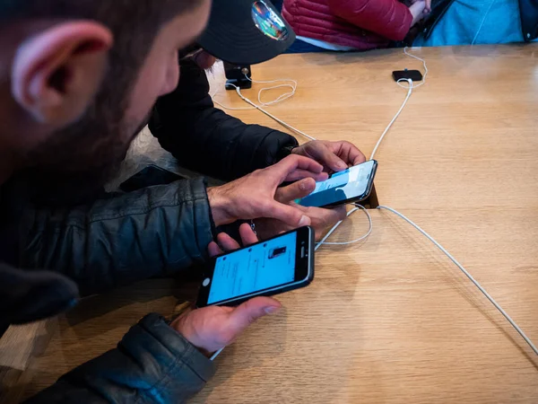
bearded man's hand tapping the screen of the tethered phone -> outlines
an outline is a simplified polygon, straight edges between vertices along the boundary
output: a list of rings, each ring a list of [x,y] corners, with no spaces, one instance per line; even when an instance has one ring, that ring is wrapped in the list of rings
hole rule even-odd
[[[215,225],[236,220],[267,217],[292,227],[310,224],[310,218],[296,206],[277,201],[274,197],[282,182],[313,178],[327,179],[323,166],[308,157],[290,155],[264,170],[257,170],[221,187],[207,190]]]

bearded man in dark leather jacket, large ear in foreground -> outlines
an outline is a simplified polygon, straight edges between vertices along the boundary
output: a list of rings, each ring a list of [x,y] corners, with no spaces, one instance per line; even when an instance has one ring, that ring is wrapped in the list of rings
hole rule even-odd
[[[103,250],[121,257],[115,268],[103,270],[66,265],[50,272],[23,265],[18,229],[28,220],[22,217],[28,212],[26,203],[43,189],[63,189],[64,184],[55,184],[60,175],[67,184],[82,182],[88,189],[100,185],[125,156],[141,117],[157,97],[177,86],[178,49],[187,48],[204,30],[210,5],[210,0],[0,2],[0,329],[68,309],[76,303],[79,285],[82,294],[91,294],[143,271],[143,277],[150,275],[143,260],[134,268],[138,272],[126,271],[121,259],[128,260],[135,249],[117,245],[135,246],[142,232],[156,239],[145,248],[168,254],[173,265],[185,267],[202,261],[208,245],[213,254],[220,252],[212,243],[215,225],[256,217],[295,226],[310,223],[304,212],[279,200],[326,178],[326,173],[314,160],[288,156],[207,191],[203,180],[179,181],[127,196],[115,209],[103,200],[70,211],[36,212],[30,231],[56,234],[42,248],[58,257],[65,253],[67,260],[78,262],[73,251],[62,248],[70,248],[67,240],[76,241],[88,231],[101,232],[102,240],[117,233],[117,244],[86,239],[76,253],[86,254],[89,261],[92,255],[99,260]],[[299,181],[277,190],[292,180]],[[100,210],[100,203],[107,209]],[[144,227],[151,215],[168,217],[169,226],[159,229],[169,232],[167,239]],[[49,222],[55,225],[48,227]],[[243,242],[256,240],[247,225],[240,232]],[[167,244],[176,239],[176,244]],[[225,235],[219,240],[225,250],[238,247]],[[63,247],[55,250],[55,243]],[[234,309],[188,312],[171,323],[149,314],[116,349],[67,373],[30,401],[187,400],[213,375],[207,356],[279,308],[275,300],[258,297]]]

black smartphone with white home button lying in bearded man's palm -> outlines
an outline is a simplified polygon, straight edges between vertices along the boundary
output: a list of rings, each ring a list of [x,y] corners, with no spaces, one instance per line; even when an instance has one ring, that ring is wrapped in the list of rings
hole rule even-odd
[[[314,230],[300,227],[215,257],[204,273],[196,306],[235,306],[304,287],[313,279]]]

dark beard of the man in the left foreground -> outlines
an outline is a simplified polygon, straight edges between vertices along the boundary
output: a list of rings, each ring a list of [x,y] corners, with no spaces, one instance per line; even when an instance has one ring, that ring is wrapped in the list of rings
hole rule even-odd
[[[126,122],[133,80],[110,74],[81,119],[57,131],[26,156],[29,198],[39,205],[77,205],[95,199],[118,171],[146,120]]]

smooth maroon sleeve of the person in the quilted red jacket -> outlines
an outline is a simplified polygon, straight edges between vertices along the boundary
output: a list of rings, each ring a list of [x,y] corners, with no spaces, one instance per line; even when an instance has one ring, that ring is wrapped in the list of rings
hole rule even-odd
[[[329,0],[334,15],[389,40],[404,40],[412,23],[409,8],[397,0]]]

